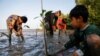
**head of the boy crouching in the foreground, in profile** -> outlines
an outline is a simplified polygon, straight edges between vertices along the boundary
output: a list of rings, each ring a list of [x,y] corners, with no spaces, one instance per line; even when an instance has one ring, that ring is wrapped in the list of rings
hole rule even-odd
[[[72,26],[79,28],[81,23],[87,23],[88,14],[88,9],[84,5],[76,5],[69,14]]]

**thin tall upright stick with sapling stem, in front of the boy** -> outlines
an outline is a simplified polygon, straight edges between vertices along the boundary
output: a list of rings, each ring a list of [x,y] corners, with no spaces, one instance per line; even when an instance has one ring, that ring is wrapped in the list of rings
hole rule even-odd
[[[41,0],[41,17],[43,19],[43,13],[44,13],[44,10],[43,10],[43,0]],[[44,22],[44,20],[43,20]],[[47,51],[47,42],[46,42],[46,36],[45,36],[45,26],[43,25],[43,30],[44,30],[44,46],[45,46],[45,55],[48,56],[48,51]]]

